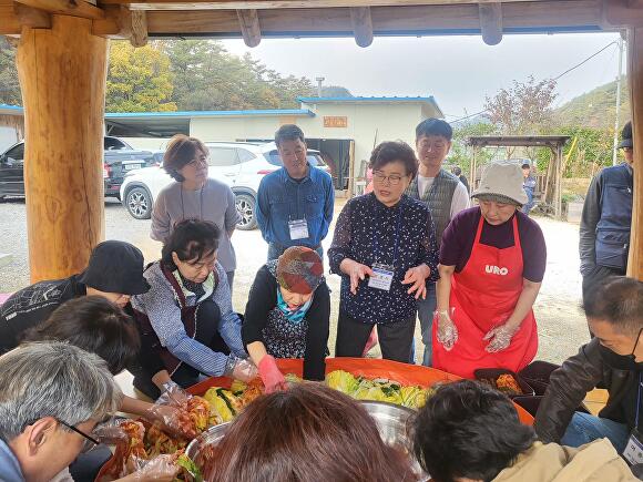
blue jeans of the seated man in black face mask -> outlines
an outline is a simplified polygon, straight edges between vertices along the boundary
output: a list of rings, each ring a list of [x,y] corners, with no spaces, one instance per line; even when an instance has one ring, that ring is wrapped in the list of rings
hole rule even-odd
[[[629,438],[630,430],[624,423],[575,412],[560,443],[568,447],[581,447],[594,440],[608,439],[616,452],[622,453]]]

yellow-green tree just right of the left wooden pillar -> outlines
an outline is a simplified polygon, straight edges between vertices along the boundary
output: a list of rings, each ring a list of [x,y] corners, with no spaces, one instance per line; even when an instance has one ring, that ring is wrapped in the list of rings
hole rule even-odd
[[[108,112],[176,111],[171,102],[170,59],[162,43],[135,49],[126,41],[112,42],[108,69]]]

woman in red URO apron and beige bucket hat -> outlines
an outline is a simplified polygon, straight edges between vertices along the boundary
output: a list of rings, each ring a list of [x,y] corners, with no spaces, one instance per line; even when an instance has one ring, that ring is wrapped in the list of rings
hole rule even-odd
[[[547,264],[513,162],[487,167],[472,194],[479,206],[458,214],[440,249],[433,367],[471,378],[477,368],[519,371],[535,356],[532,306]]]

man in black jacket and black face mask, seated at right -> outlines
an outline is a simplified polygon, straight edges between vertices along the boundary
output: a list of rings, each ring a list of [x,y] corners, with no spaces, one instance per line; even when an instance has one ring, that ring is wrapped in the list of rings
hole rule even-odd
[[[583,308],[595,338],[551,375],[535,431],[545,443],[569,447],[608,438],[622,453],[643,396],[643,283],[610,278],[590,290]],[[598,386],[610,393],[599,417],[575,412]]]

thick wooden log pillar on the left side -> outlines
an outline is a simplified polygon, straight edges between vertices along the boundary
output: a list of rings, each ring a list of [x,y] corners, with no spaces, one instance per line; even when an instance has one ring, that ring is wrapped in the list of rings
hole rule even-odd
[[[108,41],[91,20],[23,27],[24,191],[31,280],[82,270],[104,237],[103,116]]]

